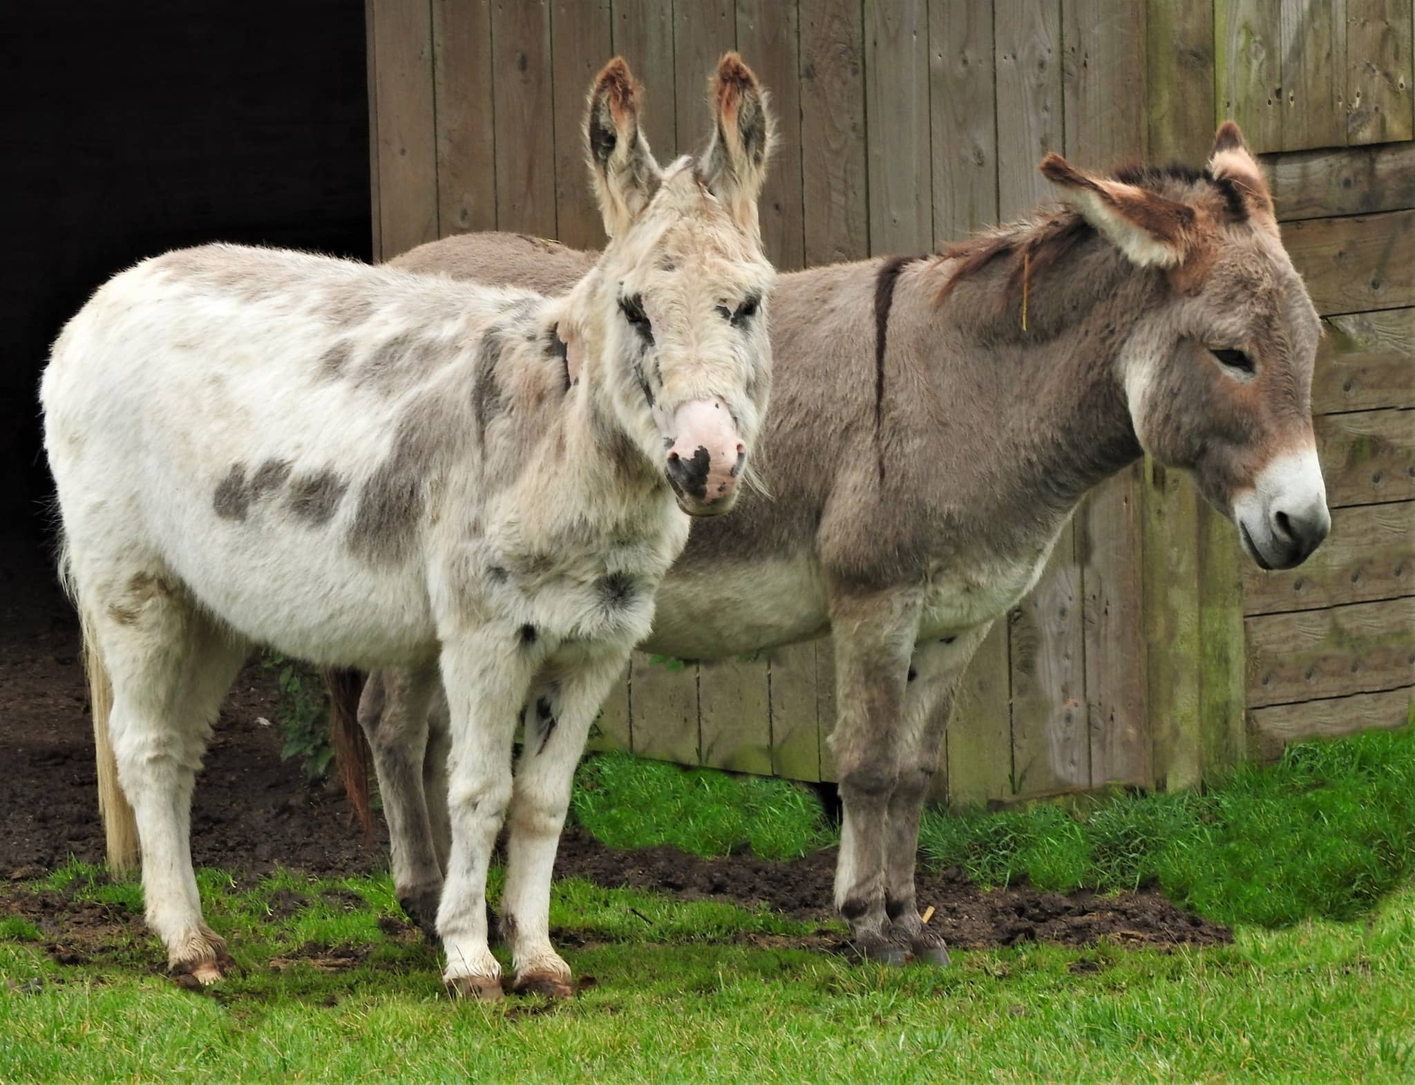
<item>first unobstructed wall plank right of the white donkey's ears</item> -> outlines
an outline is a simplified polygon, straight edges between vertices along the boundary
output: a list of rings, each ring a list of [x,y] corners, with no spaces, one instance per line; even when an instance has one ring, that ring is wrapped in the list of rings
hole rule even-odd
[[[801,188],[805,262],[869,255],[860,0],[801,8]],[[833,716],[822,717],[822,720]]]

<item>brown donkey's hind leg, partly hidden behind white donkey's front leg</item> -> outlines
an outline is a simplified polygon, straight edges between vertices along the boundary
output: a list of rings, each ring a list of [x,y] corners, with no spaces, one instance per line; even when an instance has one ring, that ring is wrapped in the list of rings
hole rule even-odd
[[[388,819],[398,903],[429,938],[437,936],[443,886],[423,795],[427,704],[436,686],[436,663],[415,669],[386,668],[369,675],[358,703],[359,727],[374,751]]]

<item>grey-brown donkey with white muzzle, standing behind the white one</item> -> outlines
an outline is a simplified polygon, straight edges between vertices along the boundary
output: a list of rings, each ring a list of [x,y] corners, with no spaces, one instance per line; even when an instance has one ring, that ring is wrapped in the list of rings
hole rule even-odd
[[[1087,491],[1142,451],[1187,468],[1264,569],[1300,563],[1330,525],[1309,402],[1317,315],[1237,126],[1201,171],[1099,177],[1057,156],[1041,170],[1063,207],[938,256],[778,279],[758,461],[771,497],[693,525],[642,645],[713,659],[833,637],[835,898],[856,946],[891,962],[947,961],[914,905],[914,857],[954,690]],[[555,293],[593,260],[484,233],[396,263]],[[382,771],[406,730],[396,692],[376,675],[362,723],[385,806],[420,812],[420,781]],[[440,806],[434,794],[420,815],[432,840],[393,840],[400,898],[424,919]]]

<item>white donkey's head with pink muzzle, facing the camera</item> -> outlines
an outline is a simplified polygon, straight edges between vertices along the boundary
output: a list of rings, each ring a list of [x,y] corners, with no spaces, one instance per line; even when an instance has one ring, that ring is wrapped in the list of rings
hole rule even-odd
[[[736,501],[771,385],[775,273],[757,225],[771,116],[757,78],[729,52],[712,79],[706,154],[661,168],[640,99],[618,58],[590,91],[584,134],[608,245],[576,291],[586,300],[579,356],[603,359],[620,423],[662,465],[679,508],[710,516]]]

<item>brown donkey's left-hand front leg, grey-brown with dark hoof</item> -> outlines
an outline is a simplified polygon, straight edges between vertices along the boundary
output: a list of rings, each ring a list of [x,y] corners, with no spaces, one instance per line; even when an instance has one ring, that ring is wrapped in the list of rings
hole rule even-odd
[[[865,958],[903,965],[884,911],[886,819],[906,744],[904,687],[918,624],[917,597],[900,591],[831,600],[838,720],[831,750],[843,823],[835,907]]]

